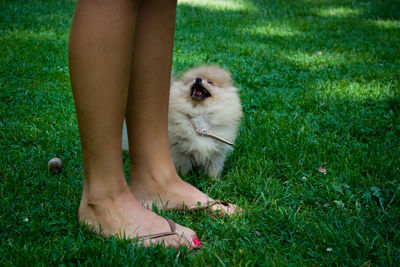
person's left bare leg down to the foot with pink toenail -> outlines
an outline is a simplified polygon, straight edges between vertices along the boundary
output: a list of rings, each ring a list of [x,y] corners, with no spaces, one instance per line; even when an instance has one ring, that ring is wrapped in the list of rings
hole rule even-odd
[[[122,122],[139,7],[139,1],[131,0],[80,0],[71,26],[71,85],[84,166],[79,220],[105,236],[134,238],[170,231],[166,220],[136,201],[122,168]],[[182,226],[177,232],[185,238],[165,237],[166,245],[196,237]]]

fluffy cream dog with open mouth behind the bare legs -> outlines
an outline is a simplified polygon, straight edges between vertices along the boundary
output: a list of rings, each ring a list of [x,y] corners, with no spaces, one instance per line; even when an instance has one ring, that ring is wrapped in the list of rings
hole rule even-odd
[[[195,129],[233,143],[241,118],[238,89],[233,86],[228,71],[216,66],[200,66],[185,72],[181,79],[173,80],[168,137],[175,167],[183,174],[197,167],[211,177],[219,177],[232,147],[198,135]],[[126,130],[123,149],[128,149]]]

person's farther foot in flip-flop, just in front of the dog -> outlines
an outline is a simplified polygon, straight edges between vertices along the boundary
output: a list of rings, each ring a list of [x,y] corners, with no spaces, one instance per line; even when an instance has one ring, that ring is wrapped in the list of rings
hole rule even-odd
[[[183,181],[175,170],[150,174],[135,172],[129,187],[135,198],[148,209],[156,205],[158,209],[196,209],[196,207],[216,212],[218,215],[232,215],[242,211],[234,204],[213,204],[215,200],[198,190],[196,187]]]

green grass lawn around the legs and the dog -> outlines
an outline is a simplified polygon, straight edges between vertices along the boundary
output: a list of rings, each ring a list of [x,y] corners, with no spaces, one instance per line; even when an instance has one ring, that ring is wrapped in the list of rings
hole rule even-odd
[[[399,1],[179,3],[176,73],[228,68],[245,113],[224,178],[185,179],[247,214],[161,212],[196,230],[197,254],[78,226],[73,9],[0,3],[0,265],[400,265]]]

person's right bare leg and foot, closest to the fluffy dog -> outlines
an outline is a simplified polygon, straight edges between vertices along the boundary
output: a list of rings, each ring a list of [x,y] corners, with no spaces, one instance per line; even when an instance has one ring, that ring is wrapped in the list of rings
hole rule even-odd
[[[194,206],[199,201],[212,200],[182,181],[169,150],[168,99],[175,5],[176,1],[144,1],[135,31],[126,113],[131,158],[129,186],[135,197],[149,207],[154,201],[159,206],[181,208],[183,204]],[[232,212],[232,208],[227,211]]]

